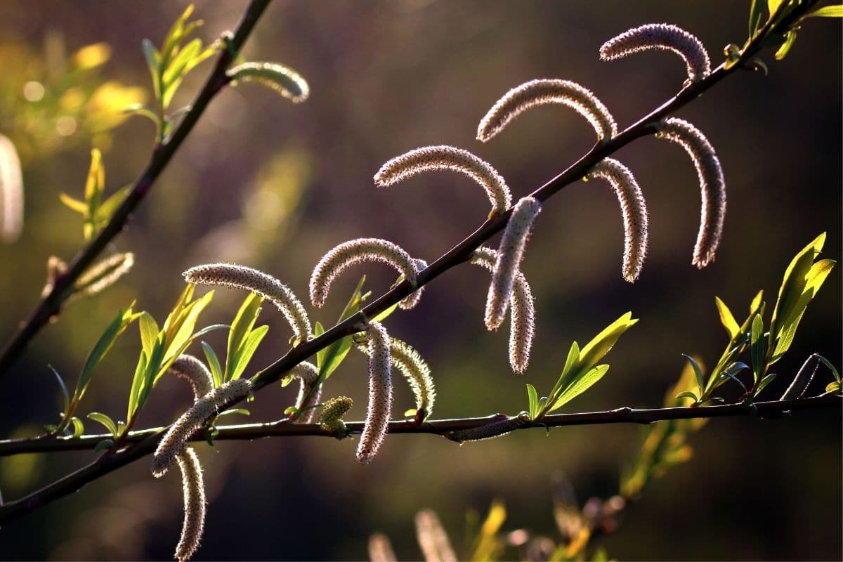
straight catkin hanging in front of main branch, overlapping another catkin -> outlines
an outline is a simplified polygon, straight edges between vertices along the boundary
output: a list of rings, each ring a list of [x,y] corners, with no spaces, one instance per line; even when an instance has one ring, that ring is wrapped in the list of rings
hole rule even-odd
[[[541,203],[534,197],[524,197],[515,204],[497,249],[495,269],[491,272],[489,294],[486,297],[486,328],[498,329],[507,313],[513,282],[521,268],[524,248],[530,227],[541,211]]]

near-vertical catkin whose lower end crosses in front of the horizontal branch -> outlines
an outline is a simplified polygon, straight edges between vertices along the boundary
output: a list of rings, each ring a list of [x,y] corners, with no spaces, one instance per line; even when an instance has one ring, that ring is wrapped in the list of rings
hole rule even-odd
[[[357,462],[371,463],[384,443],[392,415],[392,361],[389,355],[389,335],[383,325],[371,321],[366,335],[369,342],[369,398],[366,420],[360,442],[357,443]]]

